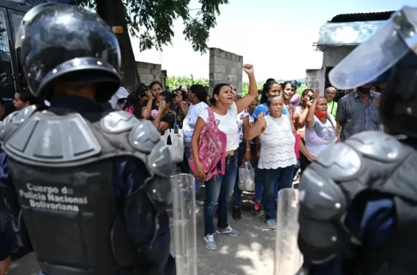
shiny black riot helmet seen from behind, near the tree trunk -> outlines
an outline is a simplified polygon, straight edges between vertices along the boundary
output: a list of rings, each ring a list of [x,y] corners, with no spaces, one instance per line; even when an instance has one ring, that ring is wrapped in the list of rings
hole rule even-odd
[[[33,7],[21,22],[15,47],[28,88],[36,96],[49,98],[57,83],[96,83],[96,100],[105,102],[120,86],[115,34],[98,15],[77,6]]]

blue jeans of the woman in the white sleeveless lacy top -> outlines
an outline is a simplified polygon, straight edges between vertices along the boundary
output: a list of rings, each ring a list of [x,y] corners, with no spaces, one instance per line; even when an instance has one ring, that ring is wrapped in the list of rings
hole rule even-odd
[[[274,201],[278,192],[284,188],[292,188],[294,165],[276,169],[264,169],[265,180],[263,184],[262,204],[266,220],[275,220]]]

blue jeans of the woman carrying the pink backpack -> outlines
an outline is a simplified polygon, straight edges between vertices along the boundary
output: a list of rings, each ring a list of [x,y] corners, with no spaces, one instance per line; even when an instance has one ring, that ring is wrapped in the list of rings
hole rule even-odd
[[[237,156],[226,158],[224,175],[218,175],[206,181],[206,199],[204,201],[204,236],[214,234],[213,216],[218,202],[217,227],[227,228],[227,214],[229,212],[230,198],[235,187],[237,171]]]

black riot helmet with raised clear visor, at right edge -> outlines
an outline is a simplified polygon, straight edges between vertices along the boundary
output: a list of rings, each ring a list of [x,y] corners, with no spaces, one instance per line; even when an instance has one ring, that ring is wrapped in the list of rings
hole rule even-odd
[[[404,6],[329,74],[339,89],[386,82],[380,117],[393,134],[417,138],[417,8]]]

